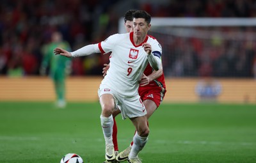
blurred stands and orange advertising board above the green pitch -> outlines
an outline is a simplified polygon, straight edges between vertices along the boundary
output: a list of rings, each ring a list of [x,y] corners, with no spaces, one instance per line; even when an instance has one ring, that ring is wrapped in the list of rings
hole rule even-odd
[[[0,6],[0,100],[54,100],[50,79],[39,74],[42,46],[49,43],[51,33],[61,31],[72,50],[76,50],[117,33],[118,20],[131,8],[146,10],[152,17],[253,18],[256,15],[256,3],[252,0],[3,0]],[[215,30],[228,33],[234,29],[236,35],[249,32],[254,36],[256,31],[254,26]],[[234,43],[208,39],[207,44],[193,36],[183,40],[154,32],[152,35],[164,48],[167,84],[164,102],[205,99],[256,102],[255,40]],[[108,56],[100,54],[72,60],[72,74],[67,79],[68,101],[97,101],[104,63],[108,63]],[[204,86],[210,82],[210,89],[204,92]]]

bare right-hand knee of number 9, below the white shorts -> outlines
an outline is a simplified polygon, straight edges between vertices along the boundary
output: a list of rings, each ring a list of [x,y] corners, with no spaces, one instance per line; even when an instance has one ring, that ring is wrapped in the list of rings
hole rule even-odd
[[[134,127],[136,128],[139,136],[148,136],[149,128],[147,125],[147,116],[138,116],[135,118],[130,118]]]

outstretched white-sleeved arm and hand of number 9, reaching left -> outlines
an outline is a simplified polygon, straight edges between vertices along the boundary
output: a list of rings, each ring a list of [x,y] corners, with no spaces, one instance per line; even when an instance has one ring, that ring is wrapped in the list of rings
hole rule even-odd
[[[100,49],[98,47],[98,44],[90,44],[74,52],[68,52],[67,50],[61,49],[60,47],[57,47],[56,49],[54,49],[53,52],[55,55],[60,54],[61,56],[65,56],[68,58],[70,57],[76,58],[80,56],[89,56],[90,54],[99,53]]]

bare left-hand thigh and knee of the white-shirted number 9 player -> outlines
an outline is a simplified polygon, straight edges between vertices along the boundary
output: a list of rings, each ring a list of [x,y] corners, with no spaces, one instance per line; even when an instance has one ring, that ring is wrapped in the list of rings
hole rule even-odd
[[[115,108],[115,100],[111,94],[103,94],[100,96],[100,106],[103,116],[110,116]]]

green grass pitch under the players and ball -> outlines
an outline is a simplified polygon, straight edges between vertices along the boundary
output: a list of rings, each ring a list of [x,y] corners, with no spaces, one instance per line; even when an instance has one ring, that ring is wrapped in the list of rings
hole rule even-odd
[[[0,162],[54,163],[67,153],[84,163],[104,161],[100,105],[0,102]],[[116,119],[119,148],[134,128]],[[149,121],[143,162],[256,162],[256,105],[162,104]]]

